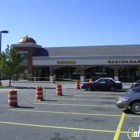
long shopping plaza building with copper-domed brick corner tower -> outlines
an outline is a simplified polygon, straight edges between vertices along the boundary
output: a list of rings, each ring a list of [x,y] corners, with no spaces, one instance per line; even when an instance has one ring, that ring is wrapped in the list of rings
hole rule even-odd
[[[140,79],[140,45],[43,47],[26,36],[12,47],[25,56],[20,78],[82,82],[100,77]]]

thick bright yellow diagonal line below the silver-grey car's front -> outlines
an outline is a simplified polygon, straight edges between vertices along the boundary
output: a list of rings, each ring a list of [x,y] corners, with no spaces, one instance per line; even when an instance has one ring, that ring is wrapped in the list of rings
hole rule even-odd
[[[120,132],[121,132],[123,122],[124,122],[124,118],[125,118],[125,113],[122,112],[121,119],[120,119],[120,122],[118,124],[117,129],[116,129],[115,136],[114,136],[113,140],[119,140],[119,136],[120,136]]]

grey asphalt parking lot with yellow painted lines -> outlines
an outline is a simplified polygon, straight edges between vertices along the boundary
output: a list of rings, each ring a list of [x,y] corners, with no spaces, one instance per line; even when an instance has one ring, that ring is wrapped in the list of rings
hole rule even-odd
[[[17,89],[17,108],[8,107],[9,89],[0,89],[1,140],[127,140],[129,128],[139,130],[139,115],[115,105],[125,90],[77,90],[74,83],[63,82],[63,96],[56,96],[53,83],[12,85],[28,88]],[[37,85],[44,87],[44,101],[35,101]]]

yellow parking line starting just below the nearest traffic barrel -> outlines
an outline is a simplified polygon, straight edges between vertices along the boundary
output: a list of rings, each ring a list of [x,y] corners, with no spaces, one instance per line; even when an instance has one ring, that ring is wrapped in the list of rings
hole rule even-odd
[[[35,112],[35,113],[50,113],[50,114],[65,114],[65,115],[81,115],[81,116],[104,116],[104,117],[120,117],[121,115],[115,114],[91,114],[91,113],[77,113],[77,112],[58,112],[58,111],[46,111],[46,110],[25,110],[25,109],[9,109],[10,111],[23,111],[23,112]]]

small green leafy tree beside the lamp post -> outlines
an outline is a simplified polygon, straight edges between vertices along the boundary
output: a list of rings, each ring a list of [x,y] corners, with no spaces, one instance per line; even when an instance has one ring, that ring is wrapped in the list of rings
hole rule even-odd
[[[11,86],[11,78],[14,74],[19,74],[21,70],[20,63],[23,61],[24,56],[19,54],[13,47],[5,49],[5,52],[0,54],[0,72],[9,76],[9,86]]]

